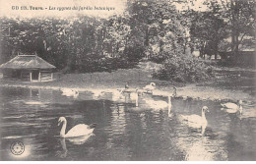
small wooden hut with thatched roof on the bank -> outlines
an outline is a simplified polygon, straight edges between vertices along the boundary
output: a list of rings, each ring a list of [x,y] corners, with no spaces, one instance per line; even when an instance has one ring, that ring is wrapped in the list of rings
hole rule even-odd
[[[52,81],[56,67],[37,55],[18,55],[7,63],[0,65],[3,78],[25,82]]]

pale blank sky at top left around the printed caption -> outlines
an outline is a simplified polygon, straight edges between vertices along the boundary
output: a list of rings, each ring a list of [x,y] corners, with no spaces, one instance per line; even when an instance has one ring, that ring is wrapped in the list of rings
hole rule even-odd
[[[50,16],[65,18],[77,14],[108,17],[121,14],[125,10],[125,2],[126,0],[0,0],[0,17],[34,18]],[[28,10],[24,10],[24,6]],[[74,6],[88,7],[88,9],[90,7],[92,10],[73,10]],[[35,7],[41,7],[43,10],[33,10]],[[70,7],[70,9],[63,11],[61,10],[63,7]],[[111,8],[112,10],[96,10],[95,7]]]

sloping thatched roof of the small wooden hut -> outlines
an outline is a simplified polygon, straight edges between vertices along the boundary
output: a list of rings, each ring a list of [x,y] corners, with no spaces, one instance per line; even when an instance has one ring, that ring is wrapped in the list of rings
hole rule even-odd
[[[0,69],[55,69],[37,55],[18,55],[7,63],[0,65]]]

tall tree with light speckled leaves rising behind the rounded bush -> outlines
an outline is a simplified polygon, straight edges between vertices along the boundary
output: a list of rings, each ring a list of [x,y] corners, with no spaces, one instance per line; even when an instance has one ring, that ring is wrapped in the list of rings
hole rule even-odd
[[[133,40],[144,48],[144,54],[162,61],[166,54],[174,53],[184,39],[185,30],[173,2],[136,0],[128,6]]]

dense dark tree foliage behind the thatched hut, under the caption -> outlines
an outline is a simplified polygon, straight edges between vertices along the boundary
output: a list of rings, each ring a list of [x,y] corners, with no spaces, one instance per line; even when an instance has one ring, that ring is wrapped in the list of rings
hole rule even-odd
[[[34,53],[63,72],[112,71],[130,67],[141,58],[136,45],[128,45],[129,16],[107,20],[78,17],[72,19],[7,19],[1,35],[1,63],[19,51]],[[139,54],[138,54],[138,53]],[[129,63],[127,63],[127,61]],[[116,64],[115,64],[116,63]]]

